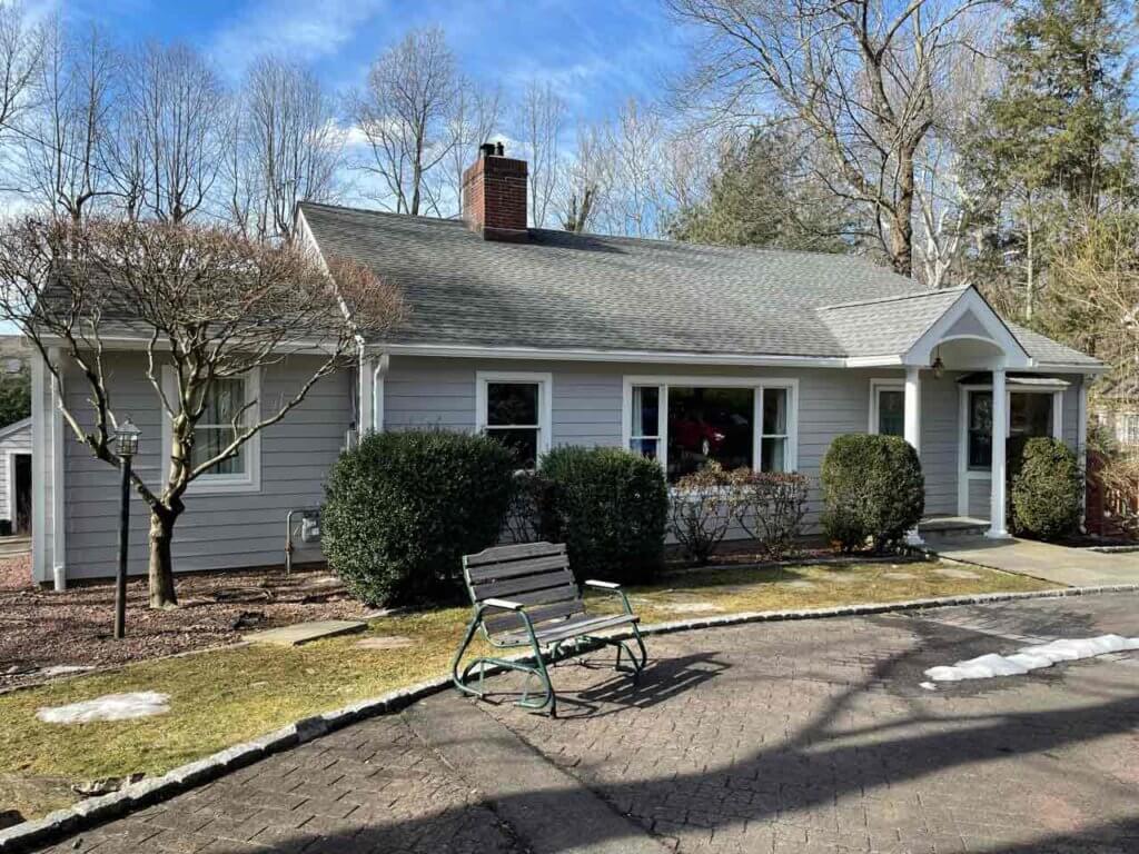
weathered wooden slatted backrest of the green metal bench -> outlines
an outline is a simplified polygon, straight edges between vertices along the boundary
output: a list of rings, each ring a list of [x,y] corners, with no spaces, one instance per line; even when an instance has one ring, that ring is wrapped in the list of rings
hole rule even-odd
[[[474,605],[495,598],[522,602],[535,625],[585,613],[564,543],[499,545],[467,555],[462,575]],[[483,625],[494,634],[524,624],[513,611],[489,610]]]

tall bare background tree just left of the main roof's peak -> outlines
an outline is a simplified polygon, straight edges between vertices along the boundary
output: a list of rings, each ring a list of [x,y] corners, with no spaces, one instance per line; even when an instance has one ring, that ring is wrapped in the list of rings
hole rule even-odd
[[[262,57],[233,104],[229,216],[257,239],[288,239],[297,202],[338,194],[344,139],[333,100],[309,69]]]

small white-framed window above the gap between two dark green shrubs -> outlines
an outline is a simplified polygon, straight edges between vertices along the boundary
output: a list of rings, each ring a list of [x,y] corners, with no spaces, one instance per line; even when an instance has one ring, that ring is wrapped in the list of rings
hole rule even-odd
[[[518,468],[535,468],[549,450],[549,387],[548,375],[478,375],[478,429],[506,445]]]

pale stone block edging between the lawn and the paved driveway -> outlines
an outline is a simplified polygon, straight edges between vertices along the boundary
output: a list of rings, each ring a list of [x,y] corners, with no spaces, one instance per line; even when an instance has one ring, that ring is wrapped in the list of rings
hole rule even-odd
[[[826,619],[833,617],[857,617],[892,611],[915,611],[929,608],[945,608],[962,605],[985,605],[1023,599],[1063,599],[1068,597],[1096,596],[1101,593],[1134,593],[1139,584],[1105,584],[1082,588],[1057,588],[1055,590],[1030,590],[1011,593],[972,593],[927,599],[909,599],[901,602],[867,602],[865,605],[841,605],[831,608],[801,608],[787,610],[743,611],[722,616],[678,619],[644,626],[641,634],[673,634],[697,629],[718,629],[749,623],[777,623],[794,619]],[[632,637],[630,632],[613,637]],[[567,657],[572,657],[572,655]],[[509,656],[523,660],[526,655]],[[495,668],[500,670],[500,668]],[[202,783],[222,777],[230,771],[245,767],[259,759],[292,747],[312,741],[335,730],[357,723],[367,717],[399,712],[412,703],[439,693],[451,685],[450,674],[418,682],[407,688],[359,700],[334,712],[304,717],[261,738],[227,748],[203,759],[180,765],[162,777],[124,786],[120,791],[87,798],[64,810],[57,810],[42,819],[25,821],[0,830],[0,852],[16,854],[31,846],[42,845],[66,834],[87,830],[109,819],[150,806],[192,789]]]

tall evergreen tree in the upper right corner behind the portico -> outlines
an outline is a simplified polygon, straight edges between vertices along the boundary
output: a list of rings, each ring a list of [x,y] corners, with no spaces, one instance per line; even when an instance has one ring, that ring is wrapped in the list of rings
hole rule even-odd
[[[1132,197],[1132,26],[1122,0],[1024,0],[1001,48],[1002,84],[970,128],[973,195],[986,199],[974,212],[976,280],[1029,321],[1065,223]]]

